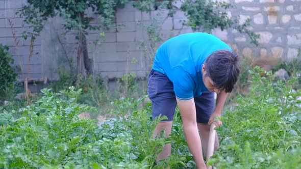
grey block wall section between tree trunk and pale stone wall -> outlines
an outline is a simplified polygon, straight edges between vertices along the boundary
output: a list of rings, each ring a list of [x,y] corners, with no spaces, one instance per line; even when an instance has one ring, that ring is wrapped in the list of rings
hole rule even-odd
[[[152,66],[152,61],[149,53],[145,53],[143,50],[145,48],[141,47],[142,42],[148,41],[147,33],[141,23],[149,25],[159,12],[162,18],[165,18],[168,13],[168,11],[140,12],[131,5],[117,9],[116,31],[105,33],[105,40],[93,51],[95,71],[109,78],[120,78],[130,72],[135,72],[137,77],[147,77],[147,70]],[[164,40],[174,35],[192,32],[187,27],[183,28],[180,22],[175,22],[183,17],[184,14],[179,12],[173,18],[167,18],[162,22],[160,25],[162,27],[158,27],[158,30]],[[136,62],[132,62],[133,59]]]

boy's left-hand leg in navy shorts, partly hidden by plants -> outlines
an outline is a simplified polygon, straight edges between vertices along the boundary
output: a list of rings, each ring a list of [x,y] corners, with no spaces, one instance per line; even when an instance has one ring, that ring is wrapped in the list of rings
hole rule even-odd
[[[153,138],[165,129],[165,136],[171,133],[173,114],[177,101],[173,92],[173,84],[169,78],[158,71],[152,70],[149,74],[147,93],[152,101],[153,119],[158,116],[166,116],[167,119],[161,121],[153,134]],[[157,162],[161,159],[166,159],[171,154],[171,144],[164,146],[163,151],[158,155]]]

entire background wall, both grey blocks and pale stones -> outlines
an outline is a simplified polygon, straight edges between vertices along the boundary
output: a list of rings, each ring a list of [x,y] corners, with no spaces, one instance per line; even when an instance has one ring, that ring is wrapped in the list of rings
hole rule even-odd
[[[218,1],[218,0],[217,0]],[[222,0],[221,0],[222,1]],[[22,18],[15,12],[26,1],[0,0],[0,43],[10,46],[15,65],[22,67],[23,74],[34,80],[44,77],[58,79],[58,65],[67,67],[67,60],[76,60],[76,41],[74,35],[63,36],[62,19],[53,18],[45,23],[41,36],[34,43],[34,54],[29,60],[29,40],[21,38],[21,33],[28,29]],[[236,30],[213,30],[213,34],[228,43],[242,56],[273,57],[289,60],[298,55],[301,48],[301,0],[230,0],[236,6],[228,12],[229,16],[240,16],[240,22],[250,18],[249,29],[260,34],[260,45],[250,44],[247,36]],[[178,2],[175,6],[180,7]],[[149,54],[139,48],[142,42],[147,44],[147,34],[138,21],[150,24],[158,13],[166,16],[166,11],[143,13],[127,5],[117,9],[116,25],[105,33],[91,31],[87,36],[89,56],[94,60],[94,70],[108,78],[121,77],[125,73],[136,72],[138,77],[145,77],[149,62]],[[93,14],[89,14],[93,16]],[[161,25],[163,39],[183,33],[192,32],[182,27],[180,20],[185,19],[182,12],[167,18]],[[13,26],[9,20],[12,21]],[[97,20],[93,24],[98,24]],[[122,25],[122,26],[118,26]],[[158,27],[159,29],[160,27]],[[15,33],[16,41],[13,38]],[[92,42],[99,40],[99,45]],[[18,45],[16,45],[18,42]],[[137,61],[132,63],[133,58]],[[74,63],[73,63],[74,64]],[[20,69],[18,73],[22,74]]]

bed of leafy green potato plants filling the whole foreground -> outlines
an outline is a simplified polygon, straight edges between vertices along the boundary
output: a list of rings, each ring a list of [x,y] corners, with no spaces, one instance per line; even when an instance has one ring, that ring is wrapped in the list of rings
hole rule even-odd
[[[297,79],[274,82],[270,73],[261,77],[262,71],[250,71],[249,94],[239,96],[238,106],[221,118],[220,148],[207,161],[216,168],[301,167],[301,92],[292,90]],[[98,126],[78,118],[95,111],[77,103],[81,90],[41,92],[44,96],[30,106],[10,112],[0,107],[1,168],[195,168],[178,111],[171,135],[152,139],[165,117],[152,119],[150,103],[135,110],[143,98],[115,101],[110,112],[116,119]],[[131,115],[124,118],[128,109]],[[172,155],[157,163],[168,143]]]

